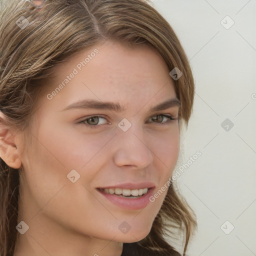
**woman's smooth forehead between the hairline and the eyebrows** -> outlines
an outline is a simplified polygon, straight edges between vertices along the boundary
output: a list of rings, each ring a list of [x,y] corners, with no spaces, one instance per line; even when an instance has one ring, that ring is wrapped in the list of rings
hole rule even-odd
[[[54,67],[46,94],[52,104],[67,105],[84,98],[132,105],[175,96],[169,70],[155,48],[128,47],[108,40],[86,48]]]

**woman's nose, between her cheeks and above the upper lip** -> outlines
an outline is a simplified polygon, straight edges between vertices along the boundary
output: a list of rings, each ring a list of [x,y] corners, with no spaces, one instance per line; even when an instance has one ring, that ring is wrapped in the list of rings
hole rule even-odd
[[[118,128],[119,129],[119,128]],[[119,129],[115,136],[113,160],[119,167],[132,166],[143,169],[153,161],[152,151],[142,127],[131,125],[127,131]]]

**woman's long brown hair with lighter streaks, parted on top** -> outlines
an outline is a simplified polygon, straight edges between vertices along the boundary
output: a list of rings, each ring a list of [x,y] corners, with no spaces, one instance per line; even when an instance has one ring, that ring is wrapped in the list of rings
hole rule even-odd
[[[21,16],[26,18],[22,27],[16,22]],[[1,0],[0,110],[9,124],[25,134],[51,67],[108,38],[153,45],[170,71],[174,67],[182,71],[174,85],[181,101],[179,118],[187,126],[194,97],[192,72],[173,29],[146,0],[48,0],[39,11],[28,1]],[[14,252],[18,197],[18,171],[0,159],[0,256]],[[171,185],[149,234],[124,244],[123,255],[131,247],[134,255],[179,255],[163,237],[173,227],[184,229],[185,251],[196,227],[195,216]]]

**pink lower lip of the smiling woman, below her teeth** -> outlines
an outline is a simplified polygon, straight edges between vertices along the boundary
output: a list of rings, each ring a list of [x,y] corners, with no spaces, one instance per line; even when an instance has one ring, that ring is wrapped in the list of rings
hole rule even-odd
[[[153,188],[149,188],[146,194],[138,198],[125,198],[118,196],[116,194],[107,194],[97,189],[99,193],[104,195],[110,202],[114,203],[115,205],[130,210],[138,210],[144,208],[149,203],[149,197],[153,194]]]

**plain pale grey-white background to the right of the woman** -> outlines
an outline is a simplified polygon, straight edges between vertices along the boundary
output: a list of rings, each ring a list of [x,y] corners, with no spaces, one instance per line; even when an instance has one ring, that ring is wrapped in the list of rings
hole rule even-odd
[[[256,255],[256,0],[152,4],[180,39],[196,83],[183,163],[201,156],[177,178],[198,221],[187,254]]]

